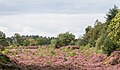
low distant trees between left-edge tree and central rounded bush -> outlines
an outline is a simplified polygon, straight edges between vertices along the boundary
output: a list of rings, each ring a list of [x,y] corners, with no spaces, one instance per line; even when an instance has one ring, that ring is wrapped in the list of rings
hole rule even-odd
[[[20,35],[15,33],[14,36],[8,37],[8,41],[11,45],[16,46],[45,46],[49,45],[51,39],[54,37],[43,37],[39,35]]]

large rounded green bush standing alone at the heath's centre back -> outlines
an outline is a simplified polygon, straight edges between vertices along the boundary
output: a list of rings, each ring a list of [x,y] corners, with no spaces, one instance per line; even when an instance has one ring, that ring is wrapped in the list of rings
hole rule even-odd
[[[73,45],[75,41],[75,35],[72,33],[66,32],[61,33],[51,40],[51,45],[55,48],[60,48],[61,46]]]

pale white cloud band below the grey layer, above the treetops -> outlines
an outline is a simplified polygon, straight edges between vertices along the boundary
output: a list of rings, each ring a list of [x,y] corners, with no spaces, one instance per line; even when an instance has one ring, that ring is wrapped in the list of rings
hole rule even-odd
[[[58,33],[70,31],[76,36],[84,33],[84,28],[93,25],[98,18],[103,21],[103,14],[51,14],[24,13],[20,15],[0,16],[0,25],[6,27],[7,36],[20,34],[39,34],[56,36]]]

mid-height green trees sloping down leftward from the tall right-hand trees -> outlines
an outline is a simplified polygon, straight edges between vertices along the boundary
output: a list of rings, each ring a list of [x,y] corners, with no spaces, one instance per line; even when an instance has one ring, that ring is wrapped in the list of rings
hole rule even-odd
[[[86,34],[84,34],[84,36],[82,38],[78,39],[77,42],[82,46],[85,46],[88,43],[91,46],[95,46],[96,40],[97,40],[97,38],[99,38],[100,31],[101,31],[102,28],[103,28],[103,24],[99,21],[96,21],[95,26],[93,28],[91,26],[88,26],[85,29]]]

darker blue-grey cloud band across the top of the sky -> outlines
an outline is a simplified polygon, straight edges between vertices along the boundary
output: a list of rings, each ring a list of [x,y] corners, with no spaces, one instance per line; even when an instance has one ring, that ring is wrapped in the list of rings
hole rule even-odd
[[[106,13],[120,3],[116,0],[0,0],[1,13]],[[88,12],[89,11],[89,12]]]

